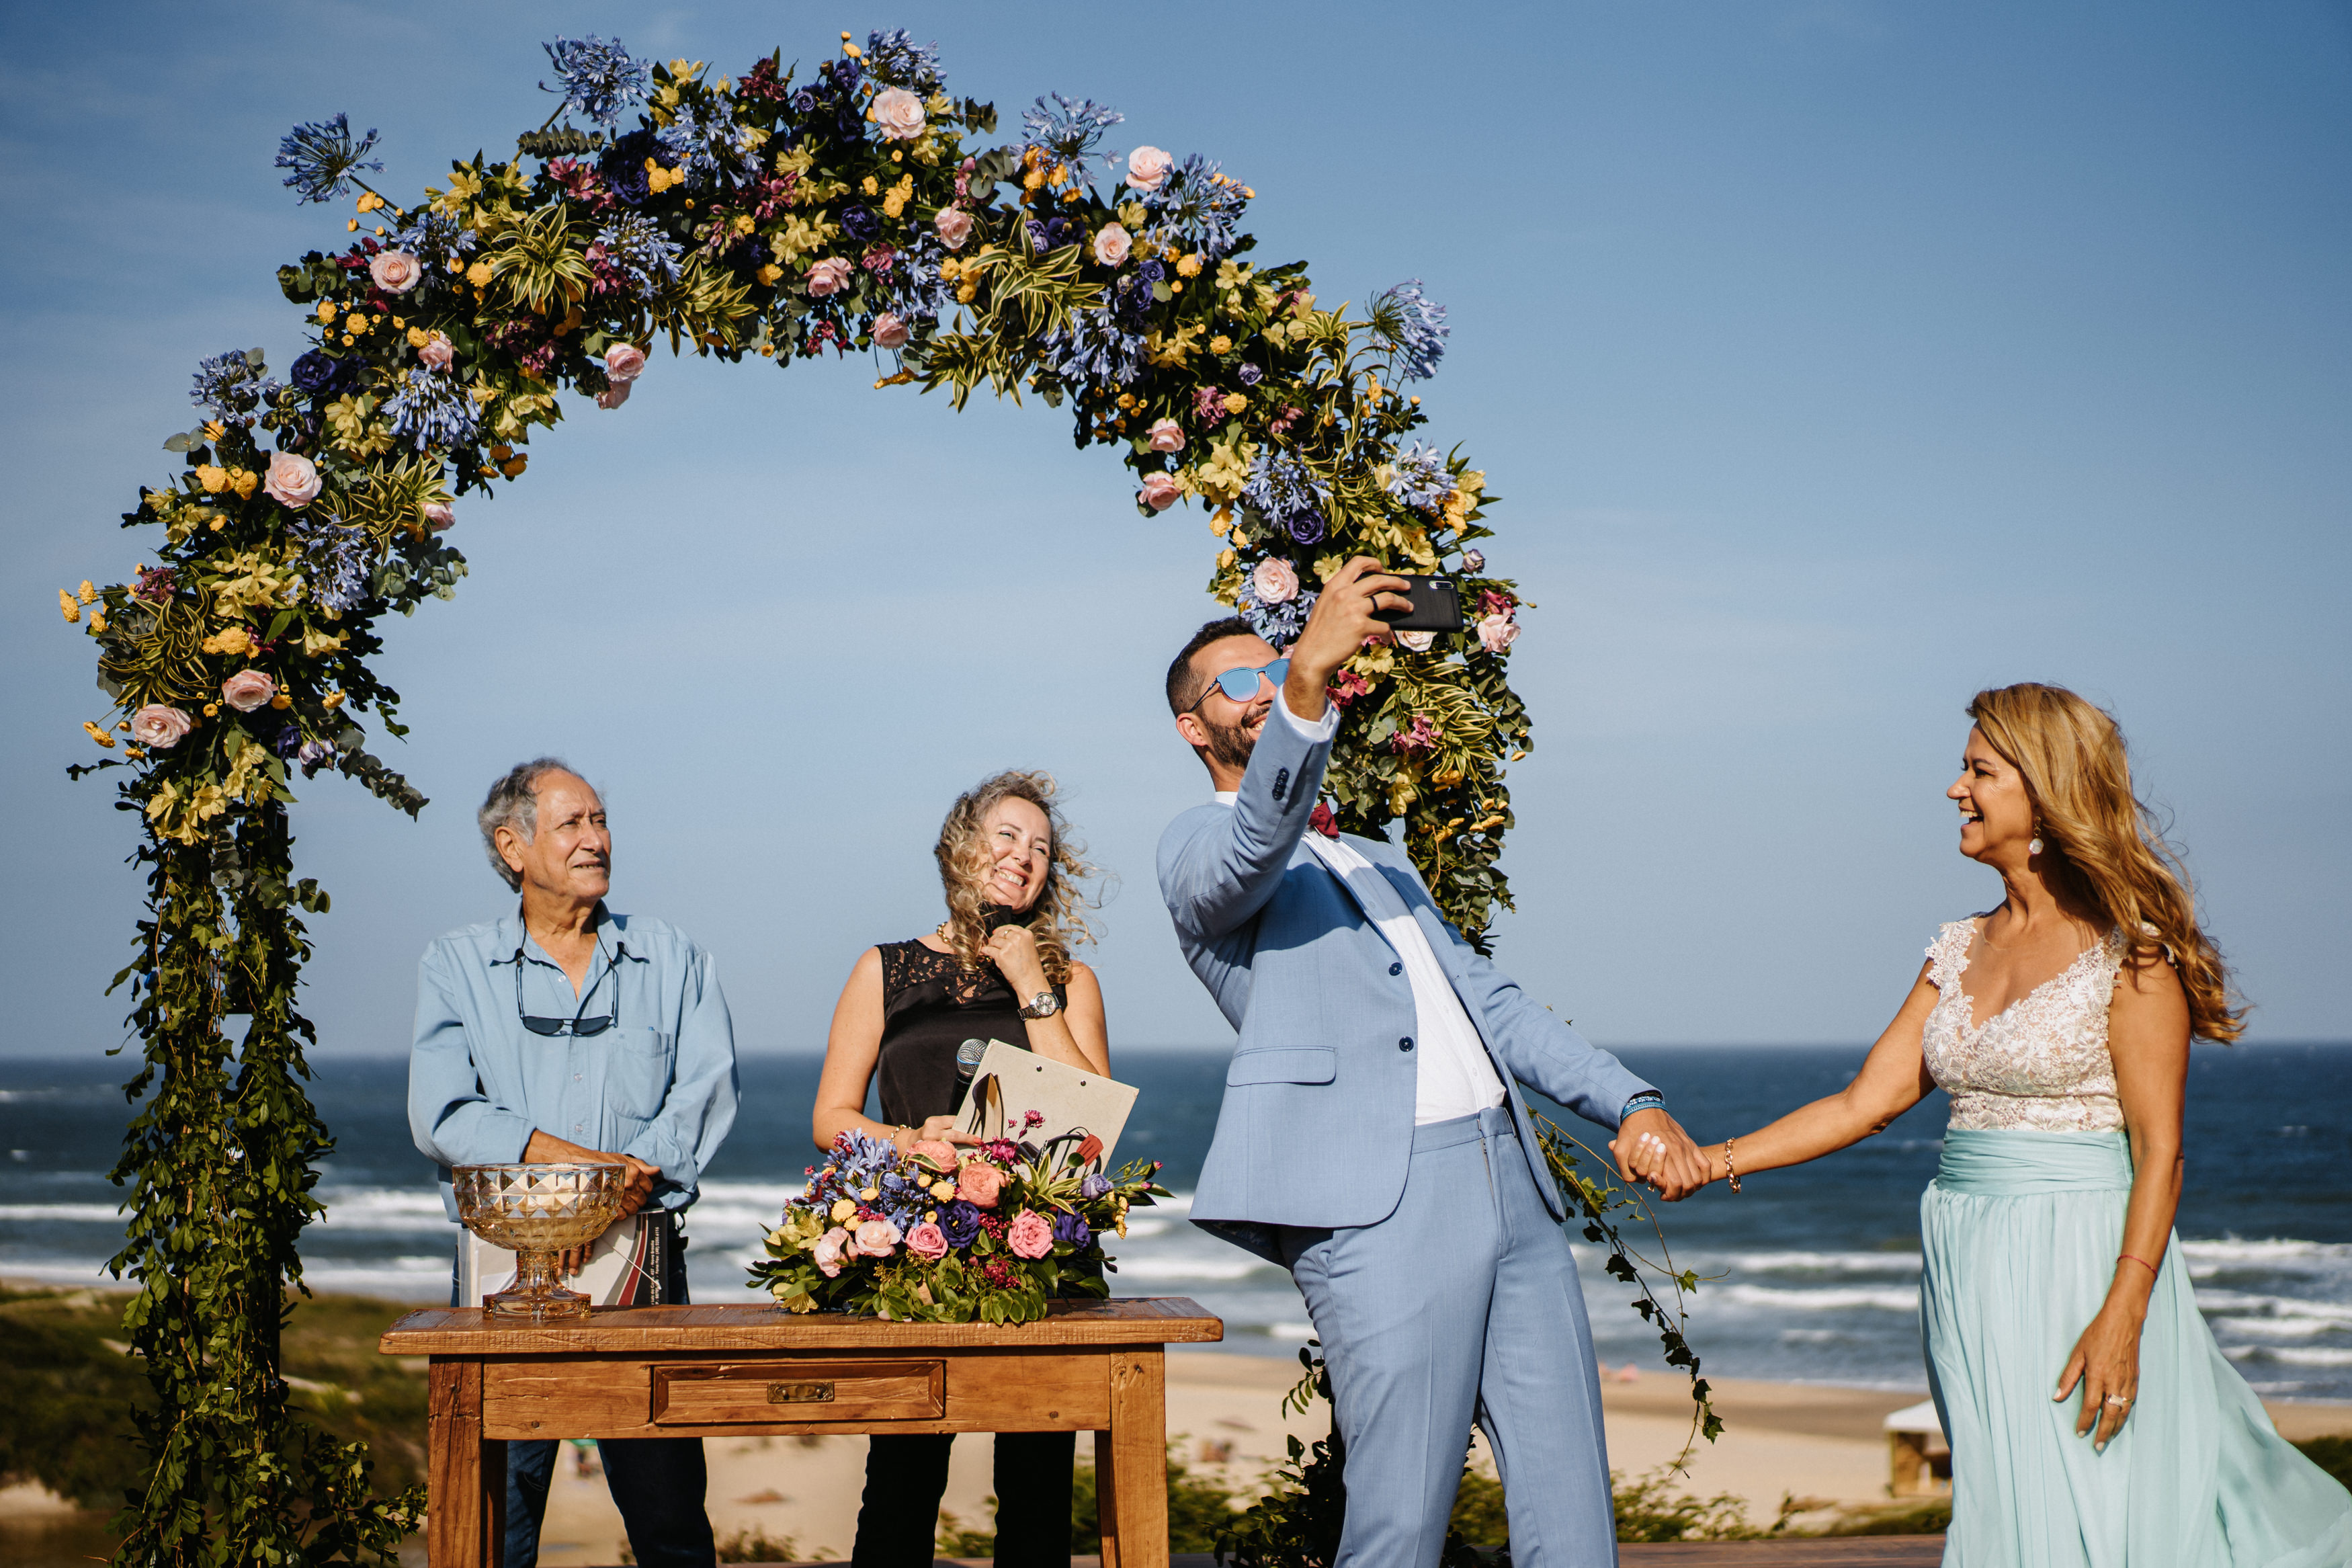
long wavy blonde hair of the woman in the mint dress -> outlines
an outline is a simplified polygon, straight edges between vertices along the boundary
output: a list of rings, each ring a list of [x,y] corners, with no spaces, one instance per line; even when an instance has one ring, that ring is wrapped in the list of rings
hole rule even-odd
[[[2187,867],[2131,792],[2131,757],[2114,717],[2037,682],[1978,691],[1969,717],[2025,778],[2044,851],[2072,891],[2124,933],[2136,964],[2173,964],[2192,1034],[2237,1039],[2244,1009],[2230,1006],[2230,969],[2197,924]]]

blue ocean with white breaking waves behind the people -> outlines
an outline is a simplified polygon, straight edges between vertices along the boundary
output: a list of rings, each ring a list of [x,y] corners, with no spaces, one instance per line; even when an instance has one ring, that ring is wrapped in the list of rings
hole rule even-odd
[[[1700,1138],[1748,1131],[1837,1091],[1856,1046],[1632,1048]],[[1141,1088],[1120,1159],[1167,1161],[1176,1192],[1138,1211],[1115,1248],[1122,1295],[1190,1295],[1225,1319],[1225,1349],[1291,1356],[1308,1338],[1282,1269],[1185,1222],[1223,1086],[1223,1053],[1124,1051]],[[689,1215],[694,1300],[755,1300],[743,1265],[814,1159],[814,1058],[743,1063],[743,1110]],[[0,1060],[0,1274],[94,1281],[120,1246],[106,1182],[127,1121],[125,1058]],[[452,1227],[409,1143],[407,1063],[334,1058],[313,1081],[336,1135],[303,1244],[315,1291],[440,1302]],[[1677,1267],[1705,1276],[1691,1342],[1726,1378],[1926,1389],[1919,1363],[1919,1190],[1936,1173],[1943,1095],[1879,1138],[1795,1171],[1665,1206]],[[1599,1147],[1576,1119],[1571,1131]],[[1343,1159],[1334,1150],[1334,1159]],[[2270,1399],[2352,1399],[2352,1046],[2199,1046],[2190,1065],[2180,1237],[2223,1349]],[[1658,1373],[1656,1335],[1578,1241],[1595,1342],[1611,1366]],[[1656,1237],[1644,1239],[1656,1255]]]

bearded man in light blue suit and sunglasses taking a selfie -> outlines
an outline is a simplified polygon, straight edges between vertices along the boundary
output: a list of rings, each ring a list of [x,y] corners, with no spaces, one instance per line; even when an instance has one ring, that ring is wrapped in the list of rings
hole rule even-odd
[[[1289,658],[1211,621],[1169,665],[1216,802],[1162,835],[1160,891],[1240,1032],[1192,1218],[1305,1295],[1348,1455],[1338,1568],[1437,1561],[1472,1420],[1512,1561],[1616,1563],[1592,1335],[1519,1084],[1616,1128],[1625,1180],[1682,1197],[1705,1164],[1656,1088],[1444,922],[1402,849],[1308,832],[1327,682],[1404,588],[1359,557]]]

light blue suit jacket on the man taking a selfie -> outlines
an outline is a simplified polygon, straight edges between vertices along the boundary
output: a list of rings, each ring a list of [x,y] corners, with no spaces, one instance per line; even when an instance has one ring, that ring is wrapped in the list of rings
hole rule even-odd
[[[1416,1032],[1414,987],[1348,884],[1301,844],[1329,755],[1329,741],[1270,715],[1240,799],[1195,806],[1160,837],[1160,893],[1176,940],[1242,1037],[1192,1220],[1277,1262],[1272,1227],[1385,1220],[1414,1152],[1421,1056],[1418,1041],[1404,1046]],[[1421,922],[1503,1079],[1536,1190],[1566,1218],[1526,1135],[1519,1084],[1606,1128],[1649,1084],[1479,957],[1404,851],[1352,835],[1348,844]]]

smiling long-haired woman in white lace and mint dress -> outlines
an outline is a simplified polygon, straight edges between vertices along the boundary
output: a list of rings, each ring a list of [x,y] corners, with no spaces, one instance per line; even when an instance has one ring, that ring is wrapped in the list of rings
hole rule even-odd
[[[2004,686],[1969,717],[1947,795],[1999,907],[1936,933],[1844,1093],[1705,1154],[1745,1178],[1952,1095],[1919,1201],[1945,1568],[2345,1568],[2352,1495],[2279,1439],[2173,1246],[2190,1039],[2239,1034],[2220,952],[2105,712]]]

